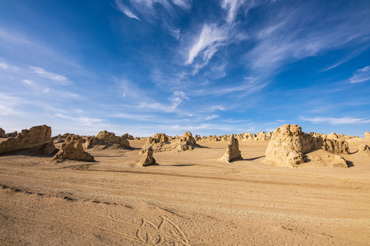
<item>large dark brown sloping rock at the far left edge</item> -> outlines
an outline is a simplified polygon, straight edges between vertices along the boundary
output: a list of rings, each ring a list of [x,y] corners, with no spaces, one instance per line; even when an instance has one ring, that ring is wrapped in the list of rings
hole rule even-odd
[[[39,148],[43,154],[51,154],[55,150],[50,126],[33,126],[29,130],[22,130],[16,137],[0,143],[0,154],[32,148]]]

